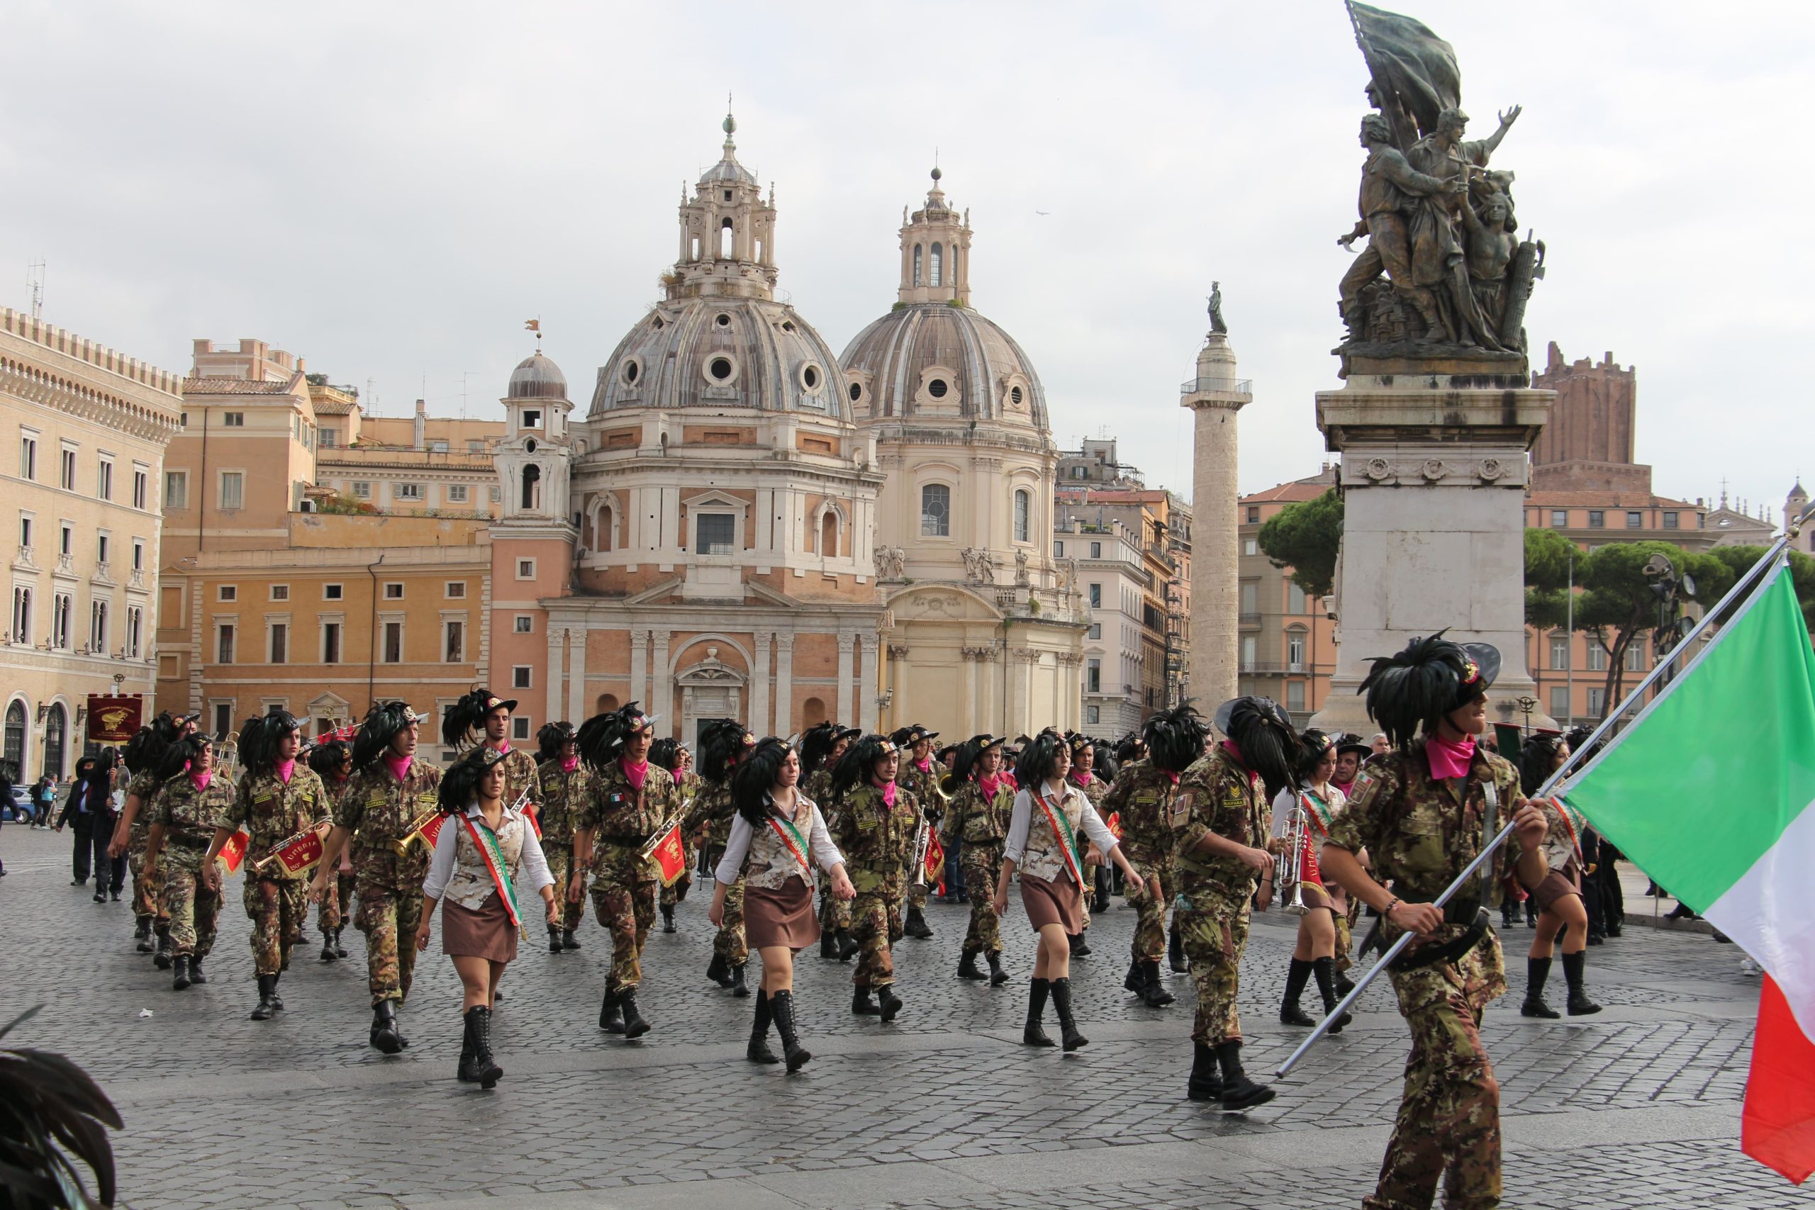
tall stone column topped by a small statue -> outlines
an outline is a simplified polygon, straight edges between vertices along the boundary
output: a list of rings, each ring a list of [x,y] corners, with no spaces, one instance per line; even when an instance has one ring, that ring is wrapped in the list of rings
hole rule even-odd
[[[1198,374],[1180,406],[1196,419],[1191,464],[1191,684],[1187,695],[1209,717],[1236,695],[1236,412],[1254,399],[1236,376],[1223,328],[1221,292],[1211,296],[1211,334],[1198,350]]]

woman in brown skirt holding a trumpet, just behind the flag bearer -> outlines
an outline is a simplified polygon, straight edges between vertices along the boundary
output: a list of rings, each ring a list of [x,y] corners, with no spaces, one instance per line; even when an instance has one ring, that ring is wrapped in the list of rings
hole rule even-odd
[[[1272,800],[1272,836],[1274,840],[1298,840],[1298,898],[1305,905],[1305,914],[1298,918],[1298,947],[1292,951],[1292,965],[1285,974],[1285,1000],[1280,1001],[1280,1025],[1316,1025],[1305,1010],[1298,1007],[1298,998],[1305,994],[1305,983],[1316,976],[1318,994],[1323,996],[1323,1012],[1336,1007],[1336,922],[1349,918],[1349,893],[1339,885],[1325,885],[1318,873],[1318,858],[1323,854],[1323,842],[1336,824],[1338,813],[1349,800],[1336,789],[1330,776],[1336,773],[1336,740],[1323,731],[1305,731],[1300,737],[1305,746],[1300,762],[1303,793],[1290,786]],[[1281,885],[1281,896],[1292,894],[1292,887]],[[1336,1018],[1329,1032],[1343,1032],[1343,1025],[1354,1020],[1347,1012]]]

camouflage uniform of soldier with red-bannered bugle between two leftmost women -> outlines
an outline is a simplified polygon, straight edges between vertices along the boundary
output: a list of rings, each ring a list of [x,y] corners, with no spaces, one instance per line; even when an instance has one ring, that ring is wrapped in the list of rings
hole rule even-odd
[[[594,831],[592,907],[612,931],[612,974],[606,992],[617,994],[643,983],[643,943],[655,923],[655,864],[643,845],[675,822],[675,782],[668,769],[652,764],[635,789],[621,762],[597,775],[592,800],[575,825]]]

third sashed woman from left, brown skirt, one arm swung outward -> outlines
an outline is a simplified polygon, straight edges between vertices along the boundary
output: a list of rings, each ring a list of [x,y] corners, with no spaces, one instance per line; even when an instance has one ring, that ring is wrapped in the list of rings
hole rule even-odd
[[[1145,893],[1143,874],[1129,864],[1120,842],[1096,816],[1096,807],[1067,778],[1069,773],[1071,751],[1058,731],[1049,727],[1022,747],[1020,762],[1015,766],[1020,791],[1009,815],[1009,838],[1002,849],[1002,874],[996,878],[995,900],[996,916],[1002,916],[1009,907],[1009,878],[1020,869],[1022,907],[1040,934],[1022,1045],[1053,1045],[1040,1027],[1051,996],[1067,1052],[1091,1043],[1078,1032],[1078,1023],[1071,1016],[1071,945],[1065,940],[1084,927],[1085,873],[1078,833],[1082,831],[1122,869],[1131,898]]]

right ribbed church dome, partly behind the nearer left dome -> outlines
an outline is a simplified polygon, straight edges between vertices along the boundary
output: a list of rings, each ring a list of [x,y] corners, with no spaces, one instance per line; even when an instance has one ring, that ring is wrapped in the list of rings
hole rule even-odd
[[[1045,390],[1027,354],[969,307],[900,305],[858,332],[839,365],[869,421],[962,415],[1047,430]]]

